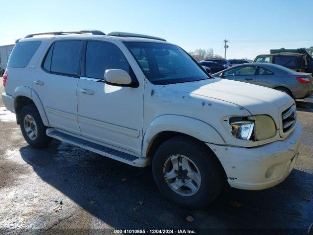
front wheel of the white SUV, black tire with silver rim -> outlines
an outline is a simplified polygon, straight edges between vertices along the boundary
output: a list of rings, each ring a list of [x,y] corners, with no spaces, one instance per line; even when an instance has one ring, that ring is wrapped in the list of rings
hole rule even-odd
[[[174,167],[172,168],[171,165],[174,165],[172,162],[176,161],[176,157],[181,162],[180,164],[182,162],[186,163],[188,159],[191,160],[187,161],[189,170],[186,172],[188,167],[179,168],[176,171],[177,177],[168,180],[166,176],[168,178],[173,177]],[[153,177],[161,194],[167,200],[188,209],[207,206],[219,195],[224,181],[221,167],[214,153],[203,143],[184,136],[174,137],[162,143],[156,150],[152,161]],[[177,167],[175,168],[177,169]],[[194,176],[192,178],[197,180],[191,179],[189,176],[191,176],[190,173],[192,172],[197,173],[193,174],[194,176],[200,175],[200,180]],[[171,186],[173,185],[172,182],[176,180],[178,180],[179,186],[184,184],[187,187],[173,188]],[[179,186],[175,184],[174,186],[178,188]],[[192,187],[189,188],[189,186]],[[196,190],[194,186],[196,186]]]

